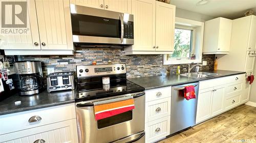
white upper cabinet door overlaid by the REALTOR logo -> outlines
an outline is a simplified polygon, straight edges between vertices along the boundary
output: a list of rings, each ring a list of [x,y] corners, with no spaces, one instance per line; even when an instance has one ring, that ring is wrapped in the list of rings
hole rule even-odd
[[[18,26],[11,26],[6,29],[13,29],[13,28],[19,28],[23,31],[22,34],[12,34],[12,33],[6,33],[6,34],[0,34],[0,49],[40,49],[40,40],[39,40],[39,33],[38,33],[38,25],[37,25],[37,19],[36,19],[36,7],[34,1],[28,1],[27,2],[27,14],[23,16],[27,16],[27,27],[23,28]],[[6,17],[4,21],[7,23],[10,23],[8,21],[12,22],[12,12],[11,8],[7,9]],[[23,13],[22,13],[23,14]],[[15,19],[17,20],[17,19]],[[0,21],[1,22],[1,21]],[[16,22],[16,21],[15,21]],[[18,21],[19,24],[22,24],[22,21]],[[1,25],[3,25],[2,23]],[[3,27],[2,27],[3,28]]]

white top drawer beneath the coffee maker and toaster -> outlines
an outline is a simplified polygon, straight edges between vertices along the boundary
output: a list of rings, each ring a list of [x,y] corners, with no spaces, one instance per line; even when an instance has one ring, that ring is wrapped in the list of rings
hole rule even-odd
[[[41,120],[37,122],[31,121],[32,123],[29,123],[29,120],[34,116],[40,117]],[[75,118],[75,104],[59,105],[3,115],[0,116],[0,135]]]

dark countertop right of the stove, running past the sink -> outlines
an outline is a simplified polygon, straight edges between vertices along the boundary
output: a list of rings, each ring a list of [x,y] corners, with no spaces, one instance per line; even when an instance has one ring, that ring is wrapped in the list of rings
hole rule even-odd
[[[212,77],[204,77],[204,78],[192,78],[192,77],[186,77],[186,76],[181,76],[176,74],[169,74],[169,75],[162,75],[162,76],[129,78],[128,80],[140,85],[141,87],[145,88],[145,90],[151,90],[151,89],[163,88],[168,86],[198,82],[201,80],[208,80],[208,79],[214,79],[219,77],[245,73],[240,71],[226,71],[226,70],[215,70],[215,71],[204,71],[204,72],[218,73],[219,75],[212,76]]]

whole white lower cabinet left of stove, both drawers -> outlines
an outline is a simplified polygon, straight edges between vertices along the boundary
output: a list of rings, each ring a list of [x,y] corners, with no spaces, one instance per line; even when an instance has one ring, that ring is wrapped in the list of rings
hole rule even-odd
[[[78,142],[74,103],[3,115],[0,123],[1,143]]]

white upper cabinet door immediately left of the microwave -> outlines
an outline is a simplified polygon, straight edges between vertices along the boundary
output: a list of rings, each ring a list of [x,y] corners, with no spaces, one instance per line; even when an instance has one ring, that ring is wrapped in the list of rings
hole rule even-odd
[[[66,0],[36,0],[41,49],[73,49],[70,4]]]

